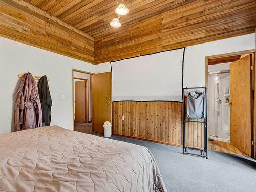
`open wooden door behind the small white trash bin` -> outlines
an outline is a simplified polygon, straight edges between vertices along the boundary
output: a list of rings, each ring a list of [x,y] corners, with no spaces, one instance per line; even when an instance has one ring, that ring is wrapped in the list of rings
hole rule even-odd
[[[93,131],[103,133],[104,122],[111,122],[111,73],[93,74],[92,77]]]

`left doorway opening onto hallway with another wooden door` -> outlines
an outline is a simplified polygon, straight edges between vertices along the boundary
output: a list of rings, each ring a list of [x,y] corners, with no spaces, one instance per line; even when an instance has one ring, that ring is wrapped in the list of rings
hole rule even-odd
[[[92,132],[91,73],[72,70],[73,83],[73,130]]]

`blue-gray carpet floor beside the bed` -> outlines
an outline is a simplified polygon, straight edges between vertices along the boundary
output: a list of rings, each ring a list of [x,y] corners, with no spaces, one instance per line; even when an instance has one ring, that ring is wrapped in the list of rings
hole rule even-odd
[[[116,135],[110,139],[147,147],[156,159],[168,191],[256,191],[256,161],[253,159],[214,151],[209,151],[209,159],[205,159],[183,155],[181,147]]]

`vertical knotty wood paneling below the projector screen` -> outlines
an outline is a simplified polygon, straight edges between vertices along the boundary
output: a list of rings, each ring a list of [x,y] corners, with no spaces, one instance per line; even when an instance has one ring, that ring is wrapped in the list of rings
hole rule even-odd
[[[113,102],[112,108],[114,134],[183,145],[182,103],[120,101]],[[187,123],[186,133],[188,146],[204,147],[202,123]]]

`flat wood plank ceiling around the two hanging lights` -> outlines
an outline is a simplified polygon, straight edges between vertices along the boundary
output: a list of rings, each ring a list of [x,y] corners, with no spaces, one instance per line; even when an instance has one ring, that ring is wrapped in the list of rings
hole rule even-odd
[[[122,24],[130,25],[164,11],[174,9],[191,0],[26,0],[51,13],[93,37],[115,32],[109,23],[115,16],[115,8],[123,2],[130,10],[122,16]]]

